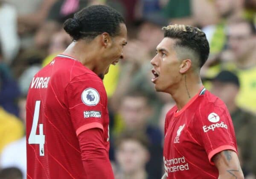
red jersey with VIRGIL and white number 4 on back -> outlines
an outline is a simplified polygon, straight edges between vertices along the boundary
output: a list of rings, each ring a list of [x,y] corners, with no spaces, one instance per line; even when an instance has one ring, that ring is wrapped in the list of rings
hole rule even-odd
[[[84,130],[102,129],[109,151],[103,82],[72,57],[58,55],[34,76],[26,112],[28,179],[87,179],[77,137]]]

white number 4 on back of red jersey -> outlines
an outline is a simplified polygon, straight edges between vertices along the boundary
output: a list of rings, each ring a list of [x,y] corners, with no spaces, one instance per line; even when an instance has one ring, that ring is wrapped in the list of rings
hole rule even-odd
[[[33,117],[32,129],[29,134],[29,144],[39,144],[40,156],[44,156],[45,135],[43,133],[43,124],[39,124],[39,135],[36,134],[39,119],[40,103],[41,101],[35,101],[35,112]]]

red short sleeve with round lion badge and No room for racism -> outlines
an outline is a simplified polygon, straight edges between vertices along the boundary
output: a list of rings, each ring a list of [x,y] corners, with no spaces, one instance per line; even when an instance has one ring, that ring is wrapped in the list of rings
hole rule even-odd
[[[78,136],[84,130],[99,128],[104,131],[107,95],[102,81],[94,75],[81,75],[66,87],[66,103]]]

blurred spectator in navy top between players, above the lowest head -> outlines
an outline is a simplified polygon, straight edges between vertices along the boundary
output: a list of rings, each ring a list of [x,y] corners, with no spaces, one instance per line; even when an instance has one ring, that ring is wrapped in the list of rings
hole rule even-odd
[[[147,163],[146,169],[153,178],[160,178],[162,173],[162,134],[157,126],[151,125],[148,121],[152,114],[151,109],[148,97],[141,92],[130,92],[123,96],[120,106],[121,121],[116,126],[115,135],[119,136],[123,130],[144,133],[151,143],[149,149],[151,159]]]

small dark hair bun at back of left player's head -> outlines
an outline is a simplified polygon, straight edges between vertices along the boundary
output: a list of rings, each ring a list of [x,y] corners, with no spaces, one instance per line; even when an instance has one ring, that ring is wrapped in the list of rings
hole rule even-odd
[[[69,18],[64,22],[64,30],[73,38],[78,40],[81,36],[79,21],[76,18]]]

